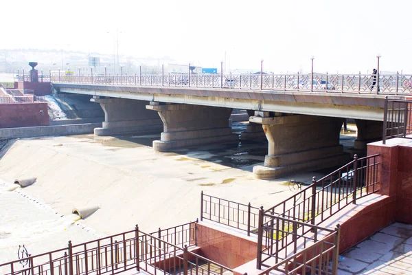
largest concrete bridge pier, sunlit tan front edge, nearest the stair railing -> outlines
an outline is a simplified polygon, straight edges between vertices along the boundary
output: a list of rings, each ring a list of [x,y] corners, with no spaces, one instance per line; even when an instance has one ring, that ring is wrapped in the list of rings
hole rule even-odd
[[[268,140],[264,166],[253,167],[260,179],[340,166],[350,161],[339,144],[342,118],[261,112],[249,120],[260,123]]]

